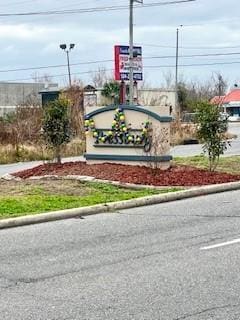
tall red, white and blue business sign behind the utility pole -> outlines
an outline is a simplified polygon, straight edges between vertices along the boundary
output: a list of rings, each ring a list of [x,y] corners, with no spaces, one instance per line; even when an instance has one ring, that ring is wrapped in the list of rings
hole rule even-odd
[[[133,80],[141,81],[142,47],[133,47]],[[129,46],[115,46],[115,80],[129,80]]]

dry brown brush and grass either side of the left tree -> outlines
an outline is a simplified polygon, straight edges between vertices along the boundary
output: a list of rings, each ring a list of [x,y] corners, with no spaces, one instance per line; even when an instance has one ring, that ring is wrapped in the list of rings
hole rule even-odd
[[[73,87],[66,93],[72,101],[70,118],[73,140],[63,148],[62,156],[79,156],[85,151],[83,132],[83,92]],[[0,163],[53,160],[41,136],[42,108],[18,107],[16,113],[0,119]]]

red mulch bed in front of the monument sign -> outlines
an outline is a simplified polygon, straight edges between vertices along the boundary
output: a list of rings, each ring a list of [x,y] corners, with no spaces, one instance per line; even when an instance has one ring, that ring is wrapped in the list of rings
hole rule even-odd
[[[211,173],[207,170],[187,166],[173,166],[166,171],[153,171],[141,166],[110,163],[89,165],[85,162],[67,162],[60,165],[44,164],[14,175],[24,179],[42,175],[84,175],[98,179],[155,186],[199,186],[240,180],[240,175]]]

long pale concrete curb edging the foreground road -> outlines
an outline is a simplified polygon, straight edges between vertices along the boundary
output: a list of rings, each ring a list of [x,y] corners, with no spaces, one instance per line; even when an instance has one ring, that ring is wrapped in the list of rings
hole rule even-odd
[[[148,206],[164,202],[193,198],[208,194],[220,193],[225,191],[233,191],[240,189],[240,182],[230,182],[217,185],[208,185],[204,187],[192,188],[184,191],[166,193],[160,195],[147,196],[132,200],[110,202],[90,207],[74,208],[67,210],[52,211],[40,213],[36,215],[28,215],[19,218],[9,218],[0,220],[0,229],[25,226],[29,224],[37,224],[63,219],[71,219],[81,216],[89,216],[104,212],[114,212],[116,210],[130,209],[134,207]]]

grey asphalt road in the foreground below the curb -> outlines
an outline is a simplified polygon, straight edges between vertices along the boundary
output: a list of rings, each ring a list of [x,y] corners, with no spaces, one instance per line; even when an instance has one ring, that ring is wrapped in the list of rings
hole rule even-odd
[[[2,230],[1,320],[239,320],[239,207],[235,191]]]

